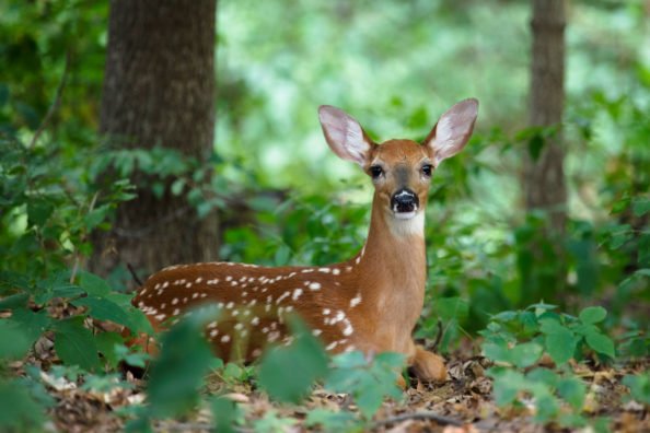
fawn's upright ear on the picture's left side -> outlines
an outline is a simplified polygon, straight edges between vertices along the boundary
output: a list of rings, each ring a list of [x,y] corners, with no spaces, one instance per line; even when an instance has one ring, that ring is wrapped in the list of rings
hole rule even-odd
[[[365,166],[372,141],[365,136],[361,125],[341,109],[321,105],[318,118],[329,148],[339,157]]]

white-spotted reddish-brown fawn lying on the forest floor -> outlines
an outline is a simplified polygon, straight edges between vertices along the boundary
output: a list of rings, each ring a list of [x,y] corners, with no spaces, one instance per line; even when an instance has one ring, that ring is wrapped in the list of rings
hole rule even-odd
[[[172,266],[147,280],[134,305],[162,329],[190,308],[218,304],[222,313],[207,325],[206,337],[223,359],[249,361],[267,344],[287,341],[287,315],[298,314],[332,353],[401,352],[421,379],[444,379],[443,360],[411,338],[427,276],[425,207],[433,171],[466,144],[477,109],[476,100],[454,105],[422,144],[375,144],[353,118],[322,106],[329,148],[359,164],[374,185],[370,231],[359,254],[315,267]]]

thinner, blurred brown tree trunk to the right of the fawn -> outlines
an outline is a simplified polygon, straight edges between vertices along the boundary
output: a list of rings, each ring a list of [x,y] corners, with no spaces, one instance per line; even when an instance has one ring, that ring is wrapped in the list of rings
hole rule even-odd
[[[565,1],[533,0],[533,52],[531,68],[531,119],[533,127],[557,127],[545,139],[539,155],[525,164],[526,208],[545,210],[552,230],[564,233],[567,220],[565,152],[561,121],[565,104]]]

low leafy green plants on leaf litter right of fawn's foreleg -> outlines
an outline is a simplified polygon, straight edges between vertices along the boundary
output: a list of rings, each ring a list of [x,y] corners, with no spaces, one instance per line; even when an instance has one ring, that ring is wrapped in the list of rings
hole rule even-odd
[[[567,362],[580,361],[589,352],[612,360],[615,347],[597,326],[607,316],[605,308],[587,307],[578,317],[558,314],[556,308],[539,303],[495,315],[480,332],[485,337],[483,352],[497,364],[488,371],[495,381],[497,405],[522,406],[529,397],[537,422],[580,428],[587,425],[582,414],[587,386]],[[544,353],[554,361],[555,370],[535,366]]]

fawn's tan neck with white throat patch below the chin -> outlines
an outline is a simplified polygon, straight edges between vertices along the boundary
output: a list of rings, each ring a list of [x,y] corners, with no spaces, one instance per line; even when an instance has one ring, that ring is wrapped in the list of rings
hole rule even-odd
[[[368,307],[403,317],[410,329],[423,304],[427,278],[425,214],[397,220],[373,200],[368,239],[358,260],[359,289]]]

